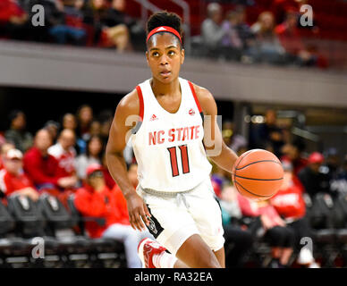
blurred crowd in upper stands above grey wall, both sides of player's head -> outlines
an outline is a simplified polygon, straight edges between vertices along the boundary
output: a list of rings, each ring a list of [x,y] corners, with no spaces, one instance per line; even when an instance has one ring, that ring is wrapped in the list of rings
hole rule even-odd
[[[300,6],[307,0],[274,0],[268,10],[257,10],[257,21],[246,19],[248,7],[258,7],[257,2],[222,2],[207,4],[207,17],[199,22],[199,36],[191,39],[191,55],[242,63],[329,65],[317,46],[303,41],[307,35],[320,35],[314,19],[305,15],[305,21],[312,25],[301,24],[304,12],[300,12]],[[225,3],[232,3],[233,8],[225,11]],[[32,24],[38,13],[32,12],[36,4],[44,7],[44,26]],[[38,21],[38,16],[35,19]],[[124,0],[0,1],[0,38],[99,46],[122,52],[144,51],[145,36],[143,24],[127,13]]]

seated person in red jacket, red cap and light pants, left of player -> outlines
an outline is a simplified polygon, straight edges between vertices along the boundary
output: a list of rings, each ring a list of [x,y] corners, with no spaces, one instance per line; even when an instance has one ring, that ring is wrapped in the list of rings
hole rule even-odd
[[[126,200],[116,185],[110,190],[106,186],[100,164],[91,164],[87,169],[87,184],[76,191],[74,204],[84,216],[104,218],[105,225],[86,222],[91,238],[110,238],[123,241],[129,268],[140,268],[137,247],[140,240],[150,237],[148,231],[135,231],[129,223]]]

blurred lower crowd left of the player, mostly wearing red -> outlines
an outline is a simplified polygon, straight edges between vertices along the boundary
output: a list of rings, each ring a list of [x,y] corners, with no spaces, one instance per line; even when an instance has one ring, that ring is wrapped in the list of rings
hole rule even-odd
[[[26,130],[26,116],[20,110],[9,115],[10,126],[0,141],[0,195],[4,205],[11,196],[37,202],[42,194],[58,198],[67,209],[74,205],[82,216],[104,219],[85,222],[92,239],[123,242],[128,267],[140,267],[137,246],[150,237],[148,231],[134,231],[129,223],[126,201],[108,172],[106,140],[113,113],[93,114],[81,105],[76,114],[63,114],[61,122],[47,121],[35,134]],[[129,179],[138,184],[137,164],[128,164]]]

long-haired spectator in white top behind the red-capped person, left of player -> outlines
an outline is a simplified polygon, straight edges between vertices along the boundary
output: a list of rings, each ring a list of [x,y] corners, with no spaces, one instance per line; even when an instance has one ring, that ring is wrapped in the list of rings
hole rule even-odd
[[[103,141],[94,135],[87,142],[85,154],[81,154],[76,158],[76,171],[80,180],[86,179],[86,170],[90,164],[102,164]]]

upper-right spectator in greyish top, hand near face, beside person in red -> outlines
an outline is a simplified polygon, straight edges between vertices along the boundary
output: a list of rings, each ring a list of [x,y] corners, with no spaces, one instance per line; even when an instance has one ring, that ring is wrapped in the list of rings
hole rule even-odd
[[[270,12],[260,13],[258,21],[251,28],[256,35],[257,44],[251,49],[256,62],[283,63],[284,47],[275,34],[274,15]]]

